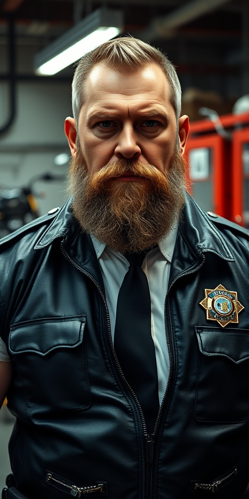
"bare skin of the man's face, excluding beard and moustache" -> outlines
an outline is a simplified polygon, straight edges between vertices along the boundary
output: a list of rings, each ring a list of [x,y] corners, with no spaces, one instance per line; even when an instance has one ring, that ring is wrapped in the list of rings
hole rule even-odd
[[[89,173],[117,158],[139,159],[162,173],[168,168],[176,143],[176,117],[169,83],[156,64],[131,74],[98,64],[87,77],[85,97],[78,141]],[[75,126],[72,119],[71,124]],[[138,179],[126,176],[117,181]]]

